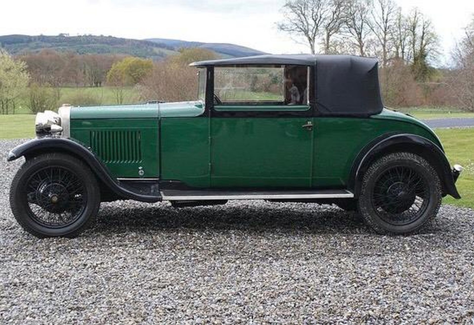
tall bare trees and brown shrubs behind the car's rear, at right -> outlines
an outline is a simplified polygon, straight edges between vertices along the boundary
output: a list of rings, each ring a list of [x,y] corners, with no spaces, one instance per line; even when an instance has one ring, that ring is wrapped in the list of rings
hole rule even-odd
[[[388,105],[474,111],[472,97],[465,99],[473,93],[473,24],[453,56],[455,69],[433,68],[440,45],[431,20],[416,8],[404,15],[394,0],[288,0],[278,28],[302,40],[313,54],[378,57]]]

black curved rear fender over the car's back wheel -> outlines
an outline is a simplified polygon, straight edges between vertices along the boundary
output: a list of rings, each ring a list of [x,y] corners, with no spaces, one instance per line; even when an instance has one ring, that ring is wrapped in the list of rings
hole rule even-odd
[[[460,199],[455,179],[445,153],[433,141],[416,134],[388,134],[369,143],[359,152],[352,166],[349,187],[356,196],[360,191],[362,177],[370,167],[370,163],[383,155],[406,151],[422,156],[436,169],[443,186],[443,195],[451,195]]]

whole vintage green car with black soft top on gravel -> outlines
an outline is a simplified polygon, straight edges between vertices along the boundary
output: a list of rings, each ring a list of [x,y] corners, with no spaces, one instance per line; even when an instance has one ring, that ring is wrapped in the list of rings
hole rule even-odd
[[[193,102],[71,107],[36,116],[9,152],[18,223],[78,235],[100,202],[337,204],[376,232],[412,232],[460,198],[436,134],[383,107],[377,60],[263,55],[203,61]],[[133,217],[133,216],[130,216]]]

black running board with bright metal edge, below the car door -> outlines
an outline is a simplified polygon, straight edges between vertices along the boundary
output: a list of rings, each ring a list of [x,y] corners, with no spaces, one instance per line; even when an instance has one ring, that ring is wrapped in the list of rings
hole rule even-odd
[[[217,190],[162,190],[163,201],[200,200],[300,200],[300,199],[343,199],[353,198],[347,190],[316,191],[217,191]]]

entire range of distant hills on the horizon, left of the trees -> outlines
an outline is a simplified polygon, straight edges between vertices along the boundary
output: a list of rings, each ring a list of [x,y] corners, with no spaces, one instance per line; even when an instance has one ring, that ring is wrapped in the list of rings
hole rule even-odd
[[[263,54],[263,52],[234,44],[188,42],[166,38],[139,40],[102,35],[68,36],[67,34],[60,34],[58,36],[0,36],[0,47],[5,48],[12,55],[52,49],[59,52],[73,52],[77,54],[124,54],[148,57],[155,60],[176,54],[177,50],[183,47],[206,48],[222,57]]]

